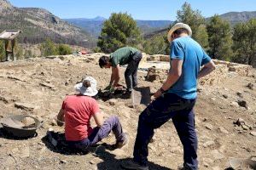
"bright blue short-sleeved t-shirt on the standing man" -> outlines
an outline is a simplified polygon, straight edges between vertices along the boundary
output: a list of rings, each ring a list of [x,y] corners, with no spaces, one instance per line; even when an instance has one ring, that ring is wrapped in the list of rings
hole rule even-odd
[[[211,61],[201,45],[191,37],[179,37],[172,42],[171,59],[183,60],[181,77],[168,90],[183,99],[196,98],[196,81],[202,65]]]

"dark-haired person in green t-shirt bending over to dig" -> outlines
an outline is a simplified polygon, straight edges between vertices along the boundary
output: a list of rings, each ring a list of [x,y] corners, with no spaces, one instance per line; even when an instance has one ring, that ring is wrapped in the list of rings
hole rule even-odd
[[[137,48],[131,47],[119,48],[110,54],[110,57],[102,56],[99,59],[101,68],[112,67],[110,82],[106,89],[109,89],[110,92],[114,91],[120,79],[119,66],[128,64],[125,70],[125,83],[126,92],[131,93],[131,88],[137,87],[137,68],[142,58],[143,54]]]

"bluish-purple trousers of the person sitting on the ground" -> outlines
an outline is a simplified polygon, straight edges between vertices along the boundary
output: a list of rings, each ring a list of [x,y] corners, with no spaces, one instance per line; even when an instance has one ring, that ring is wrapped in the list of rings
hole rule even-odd
[[[94,145],[106,138],[111,131],[113,131],[117,141],[124,140],[125,137],[118,116],[110,116],[102,127],[94,127],[88,138],[81,141],[67,141],[67,144],[78,150],[86,150],[90,145]]]

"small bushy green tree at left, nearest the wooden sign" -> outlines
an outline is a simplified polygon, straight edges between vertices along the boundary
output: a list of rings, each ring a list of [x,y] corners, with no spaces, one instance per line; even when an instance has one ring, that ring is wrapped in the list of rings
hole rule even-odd
[[[47,38],[45,40],[45,42],[42,43],[40,49],[41,49],[42,56],[49,56],[49,55],[56,55],[56,54],[58,54],[57,48],[55,46],[55,43],[52,42],[49,38]]]

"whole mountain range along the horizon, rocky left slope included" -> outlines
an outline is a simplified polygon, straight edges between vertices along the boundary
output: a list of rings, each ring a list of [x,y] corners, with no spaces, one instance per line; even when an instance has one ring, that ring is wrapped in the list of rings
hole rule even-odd
[[[44,42],[49,37],[54,42],[92,48],[100,35],[105,20],[102,16],[94,19],[63,19],[51,14],[44,8],[16,8],[8,0],[0,0],[0,32],[4,30],[22,30],[20,42]],[[253,12],[230,12],[221,14],[221,18],[232,25],[256,18]],[[209,18],[207,18],[209,20]],[[136,20],[144,37],[166,31],[172,20]]]

